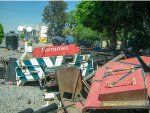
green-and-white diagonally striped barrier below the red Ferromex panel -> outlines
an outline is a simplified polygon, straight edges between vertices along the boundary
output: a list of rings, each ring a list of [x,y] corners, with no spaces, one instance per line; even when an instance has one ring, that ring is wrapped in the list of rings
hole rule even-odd
[[[86,60],[88,58],[88,61]],[[45,68],[56,68],[65,64],[64,56],[56,57],[40,57],[16,62],[16,78],[17,85],[21,85],[27,81],[38,81],[45,78]],[[88,76],[95,69],[93,68],[92,55],[75,54],[71,62],[67,64],[80,68],[82,76]]]

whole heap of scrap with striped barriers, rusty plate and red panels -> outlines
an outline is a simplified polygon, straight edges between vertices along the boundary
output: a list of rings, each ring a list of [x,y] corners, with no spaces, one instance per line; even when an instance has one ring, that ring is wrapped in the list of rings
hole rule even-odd
[[[15,66],[18,86],[39,81],[42,87],[59,87],[58,93],[45,95],[45,100],[53,98],[57,103],[37,113],[94,113],[104,109],[144,109],[145,112],[149,109],[149,56],[126,58],[120,54],[113,58],[102,52],[81,54],[75,44],[34,48],[32,58],[25,59],[25,55]],[[105,57],[96,59],[98,55]],[[98,67],[98,62],[107,63]]]

